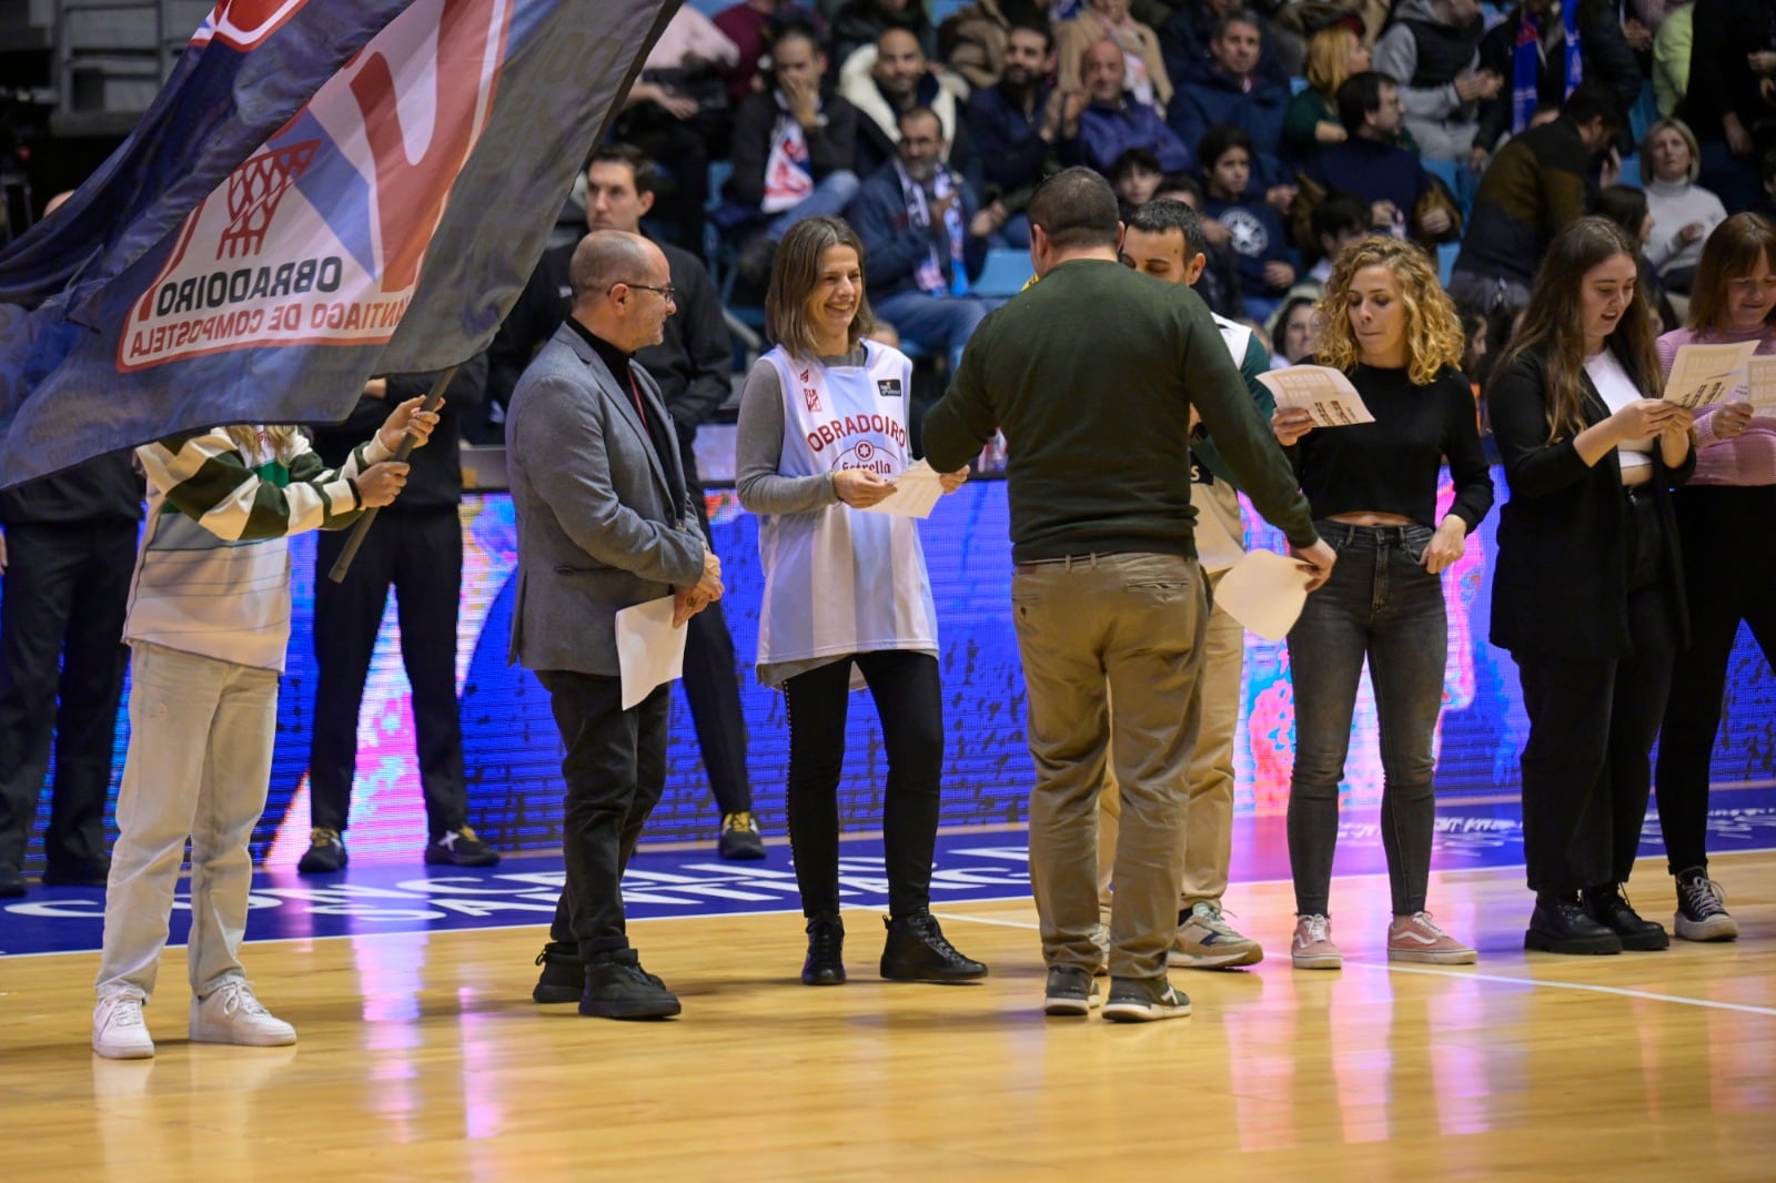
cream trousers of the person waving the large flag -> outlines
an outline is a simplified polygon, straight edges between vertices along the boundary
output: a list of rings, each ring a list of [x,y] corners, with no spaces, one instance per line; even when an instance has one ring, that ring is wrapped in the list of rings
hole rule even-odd
[[[247,840],[265,812],[277,734],[277,671],[137,643],[117,846],[105,885],[98,993],[149,998],[167,947],[172,890],[192,840],[192,995],[243,977],[252,888]]]

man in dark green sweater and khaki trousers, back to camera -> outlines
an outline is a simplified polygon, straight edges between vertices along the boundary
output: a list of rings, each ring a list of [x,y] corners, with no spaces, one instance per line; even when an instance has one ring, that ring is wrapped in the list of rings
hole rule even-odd
[[[1094,817],[1114,730],[1122,830],[1105,1018],[1144,1021],[1190,1012],[1165,965],[1208,622],[1190,504],[1192,407],[1257,512],[1314,568],[1314,586],[1334,556],[1202,300],[1122,266],[1119,238],[1115,194],[1089,169],[1035,192],[1030,256],[1043,281],[980,323],[925,414],[924,444],[938,471],[968,464],[996,430],[1011,455],[1044,1009],[1083,1016],[1096,1002]]]

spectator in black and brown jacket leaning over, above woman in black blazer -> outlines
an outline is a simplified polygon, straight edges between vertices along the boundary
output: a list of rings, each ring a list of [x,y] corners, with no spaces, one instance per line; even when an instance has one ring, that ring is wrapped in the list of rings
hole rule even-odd
[[[1611,153],[1621,126],[1621,105],[1609,87],[1581,82],[1559,119],[1501,147],[1474,194],[1449,295],[1488,316],[1511,316],[1529,304],[1542,258],[1568,222],[1584,217],[1598,187],[1598,156]],[[1616,172],[1620,163],[1606,162],[1602,183],[1613,185]]]

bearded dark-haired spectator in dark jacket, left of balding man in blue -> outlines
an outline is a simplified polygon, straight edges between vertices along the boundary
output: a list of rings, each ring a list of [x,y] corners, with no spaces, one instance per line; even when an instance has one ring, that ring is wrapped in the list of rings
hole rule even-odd
[[[1046,20],[1012,20],[1005,34],[1005,67],[991,87],[980,87],[963,108],[986,174],[986,197],[1005,206],[998,247],[1028,247],[1030,222],[1023,215],[1035,192],[1060,130],[1078,123],[1085,94],[1066,94],[1044,80],[1055,69],[1053,34]]]

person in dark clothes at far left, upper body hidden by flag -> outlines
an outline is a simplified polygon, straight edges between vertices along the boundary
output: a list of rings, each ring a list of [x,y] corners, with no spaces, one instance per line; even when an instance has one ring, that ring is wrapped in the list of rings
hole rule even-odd
[[[52,732],[43,881],[105,886],[105,794],[142,492],[128,451],[0,492],[0,897],[25,893]]]

